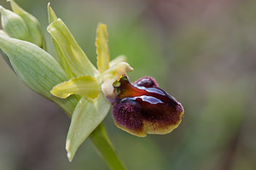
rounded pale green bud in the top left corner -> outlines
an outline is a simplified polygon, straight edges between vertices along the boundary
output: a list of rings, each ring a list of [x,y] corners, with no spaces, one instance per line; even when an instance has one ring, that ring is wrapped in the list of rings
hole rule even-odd
[[[31,40],[26,23],[20,15],[15,14],[2,6],[0,6],[0,12],[3,30],[9,35],[9,37],[15,37],[26,41]]]

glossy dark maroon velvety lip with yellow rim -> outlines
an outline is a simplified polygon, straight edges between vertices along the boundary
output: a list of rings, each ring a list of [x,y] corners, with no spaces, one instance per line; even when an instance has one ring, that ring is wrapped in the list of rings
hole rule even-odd
[[[115,87],[113,119],[118,127],[137,136],[170,133],[181,122],[183,106],[151,77],[130,83],[127,77]]]

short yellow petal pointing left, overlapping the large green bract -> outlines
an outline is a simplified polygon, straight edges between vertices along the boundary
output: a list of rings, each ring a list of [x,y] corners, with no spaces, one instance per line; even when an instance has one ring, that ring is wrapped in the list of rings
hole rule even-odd
[[[61,82],[56,85],[50,93],[66,99],[71,94],[84,95],[87,98],[95,99],[101,92],[101,88],[95,77],[92,76],[82,76],[70,79],[67,82]]]

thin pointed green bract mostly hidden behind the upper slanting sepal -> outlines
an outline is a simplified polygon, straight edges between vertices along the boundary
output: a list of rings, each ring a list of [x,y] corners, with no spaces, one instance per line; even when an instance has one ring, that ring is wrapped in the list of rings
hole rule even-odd
[[[48,20],[49,20],[49,24],[52,23],[53,21],[57,20],[57,16],[56,16],[54,10],[49,6],[49,3],[48,3]],[[61,65],[62,69],[66,72],[67,77],[69,77],[69,78],[74,77],[74,74],[69,69],[69,66],[67,64],[67,60],[65,59],[65,56],[62,54],[61,48],[59,47],[58,43],[55,42],[54,38],[52,38],[52,42],[54,44],[55,52],[56,52],[57,57],[59,59],[59,63]]]

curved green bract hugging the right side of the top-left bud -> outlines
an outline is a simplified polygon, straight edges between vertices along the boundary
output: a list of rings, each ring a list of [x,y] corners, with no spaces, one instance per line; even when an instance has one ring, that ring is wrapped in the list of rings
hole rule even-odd
[[[30,42],[38,45],[40,48],[43,48],[44,37],[38,20],[32,14],[27,13],[23,8],[20,8],[20,6],[15,3],[15,1],[9,0],[9,2],[15,14],[19,14],[20,17],[24,20],[31,37]]]

